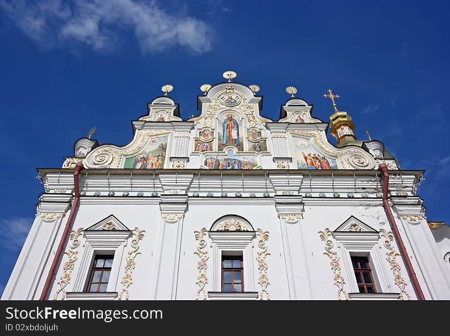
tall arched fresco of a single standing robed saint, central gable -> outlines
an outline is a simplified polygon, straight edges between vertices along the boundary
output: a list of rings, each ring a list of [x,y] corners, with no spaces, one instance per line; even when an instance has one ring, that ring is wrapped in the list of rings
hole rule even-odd
[[[234,146],[240,151],[244,150],[242,129],[242,121],[236,119],[235,114],[224,114],[218,125],[218,150],[223,150],[227,146]]]

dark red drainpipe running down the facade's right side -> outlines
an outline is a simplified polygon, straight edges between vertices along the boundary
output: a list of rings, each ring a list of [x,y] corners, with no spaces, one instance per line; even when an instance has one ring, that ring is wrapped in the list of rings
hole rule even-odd
[[[394,216],[392,215],[391,207],[389,206],[389,203],[388,203],[388,188],[389,188],[388,166],[386,166],[386,164],[384,164],[384,163],[381,163],[378,167],[378,170],[381,173],[383,173],[383,176],[384,176],[383,205],[385,207],[386,214],[388,215],[389,222],[391,223],[391,228],[392,228],[392,231],[394,232],[395,240],[397,240],[401,257],[403,258],[404,263],[406,263],[406,267],[408,268],[408,273],[410,274],[414,289],[416,290],[419,300],[425,300],[425,296],[423,295],[422,288],[420,288],[420,284],[419,284],[419,281],[417,280],[416,273],[414,272],[413,265],[411,264],[411,260],[408,257],[408,253],[406,252],[406,248],[404,247],[403,240],[401,239],[400,233],[398,232],[398,228],[397,228],[397,224],[395,223]]]

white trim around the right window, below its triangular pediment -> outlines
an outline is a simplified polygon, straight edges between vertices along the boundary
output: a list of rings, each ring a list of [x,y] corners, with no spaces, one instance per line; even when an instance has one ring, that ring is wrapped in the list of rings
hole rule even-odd
[[[389,274],[386,272],[388,262],[381,252],[383,248],[379,243],[379,233],[375,232],[333,232],[334,239],[341,250],[344,272],[347,276],[349,292],[359,293],[356,277],[353,270],[351,255],[369,255],[372,275],[379,293],[392,293]],[[391,276],[392,277],[392,276]],[[392,279],[391,279],[392,280]]]

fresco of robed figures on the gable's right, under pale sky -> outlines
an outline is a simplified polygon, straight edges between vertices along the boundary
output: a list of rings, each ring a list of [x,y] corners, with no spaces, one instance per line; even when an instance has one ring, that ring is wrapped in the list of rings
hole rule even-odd
[[[338,169],[338,163],[314,148],[309,139],[292,137],[298,169]]]

